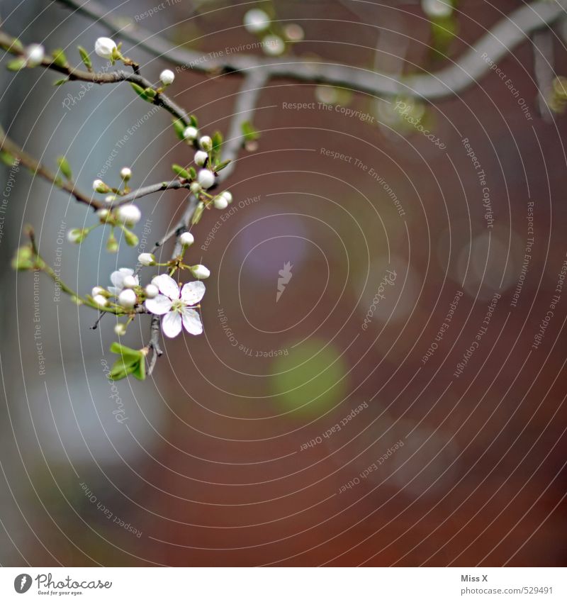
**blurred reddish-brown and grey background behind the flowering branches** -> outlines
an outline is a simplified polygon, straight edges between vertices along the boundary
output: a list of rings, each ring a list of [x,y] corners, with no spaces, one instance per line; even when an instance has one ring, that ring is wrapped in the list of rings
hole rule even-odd
[[[262,8],[298,40],[291,57],[396,76],[451,65],[521,5],[106,3],[129,28],[225,54],[263,54],[242,26]],[[77,44],[108,34],[57,2],[0,11],[3,30],[77,65]],[[563,23],[546,35],[567,74]],[[123,51],[152,81],[174,69]],[[434,104],[269,82],[260,138],[226,182],[230,214],[192,230],[191,263],[211,271],[204,333],[164,342],[143,382],[106,378],[112,318],[91,330],[94,311],[10,260],[32,223],[47,262],[88,293],[135,265],[186,195],[142,199],[140,245],[112,255],[103,228],[67,242],[93,221],[84,207],[4,166],[1,564],[565,563],[566,118],[551,89],[556,112],[539,111],[535,55],[527,38],[498,62],[505,79]],[[82,189],[118,184],[123,166],[133,186],[159,182],[191,160],[127,84],[53,87],[53,72],[1,62],[1,126],[52,169],[65,155]],[[169,91],[226,133],[240,82],[184,69]],[[123,342],[148,338],[142,316]]]

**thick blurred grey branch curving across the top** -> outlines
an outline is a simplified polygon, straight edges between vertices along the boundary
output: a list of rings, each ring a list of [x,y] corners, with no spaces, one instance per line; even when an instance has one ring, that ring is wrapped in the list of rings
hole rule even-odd
[[[322,61],[296,57],[263,58],[254,55],[224,55],[211,57],[194,50],[174,47],[171,43],[142,28],[123,27],[109,15],[106,7],[96,0],[83,4],[79,0],[58,0],[78,13],[105,26],[113,35],[162,57],[176,65],[205,73],[241,73],[254,68],[266,69],[269,77],[285,77],[303,82],[329,84],[377,96],[405,94],[424,100],[442,99],[459,94],[490,72],[490,65],[483,60],[485,54],[493,62],[529,38],[535,31],[554,23],[565,14],[566,0],[537,0],[526,4],[483,35],[453,65],[436,73],[415,74],[408,77],[382,74],[349,65],[336,65]],[[123,21],[122,21],[123,23]]]

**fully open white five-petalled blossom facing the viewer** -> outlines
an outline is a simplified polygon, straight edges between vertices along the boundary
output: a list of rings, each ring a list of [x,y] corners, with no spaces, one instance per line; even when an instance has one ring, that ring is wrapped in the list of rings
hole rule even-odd
[[[188,282],[181,291],[175,280],[167,274],[161,274],[152,279],[159,289],[155,299],[146,299],[147,311],[162,319],[164,335],[174,338],[181,333],[181,328],[191,335],[200,335],[203,332],[201,316],[191,306],[196,305],[205,294],[205,285],[202,282]]]

